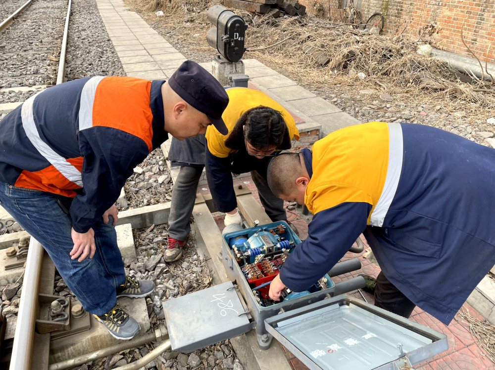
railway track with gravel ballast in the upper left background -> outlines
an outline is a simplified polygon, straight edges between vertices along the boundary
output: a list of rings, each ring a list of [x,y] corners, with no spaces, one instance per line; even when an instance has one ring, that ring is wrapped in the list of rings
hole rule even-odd
[[[11,2],[19,4],[6,0],[0,7],[11,7]],[[18,94],[9,93],[13,90],[25,88],[23,101],[40,86],[63,82],[70,1],[32,0],[21,5],[15,19],[2,22],[0,29],[0,104],[19,101]]]

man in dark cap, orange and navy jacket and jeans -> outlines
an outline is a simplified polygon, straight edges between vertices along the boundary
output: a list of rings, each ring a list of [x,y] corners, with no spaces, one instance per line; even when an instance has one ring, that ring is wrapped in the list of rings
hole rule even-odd
[[[184,139],[211,123],[226,133],[227,104],[221,84],[186,61],[166,82],[88,77],[52,86],[0,121],[0,205],[118,339],[139,325],[117,297],[154,289],[125,276],[114,228],[120,190],[168,133]]]

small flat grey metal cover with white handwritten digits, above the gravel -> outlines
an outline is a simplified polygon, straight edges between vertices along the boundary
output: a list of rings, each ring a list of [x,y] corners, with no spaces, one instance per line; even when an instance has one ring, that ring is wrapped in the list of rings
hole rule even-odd
[[[231,282],[169,299],[163,311],[172,349],[192,352],[251,329]]]

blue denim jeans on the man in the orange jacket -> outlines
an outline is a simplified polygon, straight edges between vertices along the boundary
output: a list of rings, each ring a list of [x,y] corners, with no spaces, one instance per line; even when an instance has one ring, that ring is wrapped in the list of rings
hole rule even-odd
[[[69,209],[72,198],[0,182],[0,205],[46,249],[83,308],[101,316],[115,305],[116,288],[125,280],[115,226],[111,218],[108,224],[96,222],[95,255],[78,262],[69,255],[72,219],[57,202]]]

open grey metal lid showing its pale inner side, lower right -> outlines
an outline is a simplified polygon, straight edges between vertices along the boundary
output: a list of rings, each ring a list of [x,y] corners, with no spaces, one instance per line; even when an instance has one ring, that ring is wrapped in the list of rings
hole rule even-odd
[[[265,320],[267,331],[310,369],[398,369],[448,348],[446,335],[339,295]],[[401,360],[404,361],[404,360]]]

